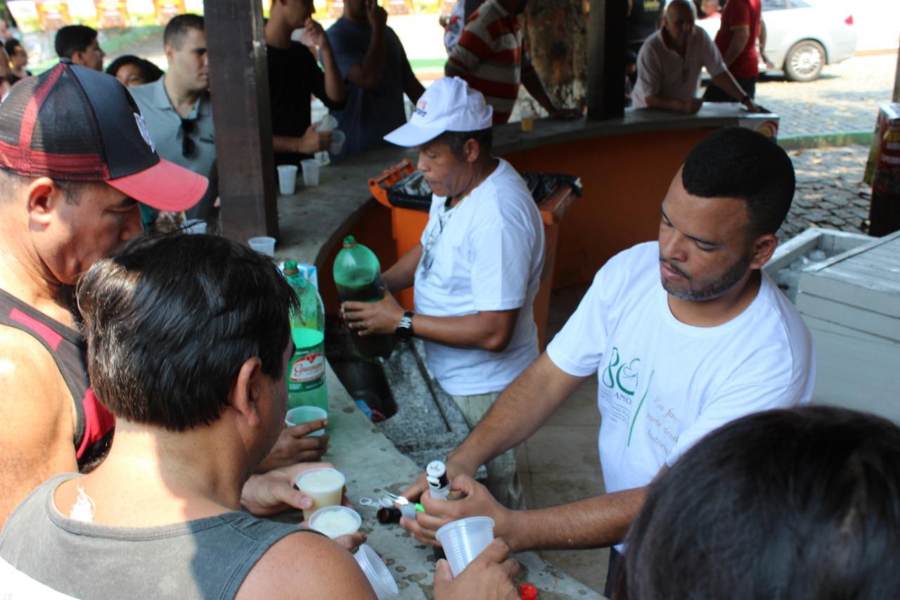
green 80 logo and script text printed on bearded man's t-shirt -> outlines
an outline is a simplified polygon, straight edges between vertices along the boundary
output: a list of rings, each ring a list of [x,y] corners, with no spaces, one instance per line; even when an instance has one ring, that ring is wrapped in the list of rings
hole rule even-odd
[[[640,358],[623,358],[614,346],[600,374],[599,395],[608,406],[603,418],[627,428],[626,446],[645,432],[651,443],[668,454],[678,441],[679,418],[653,390],[655,373]]]

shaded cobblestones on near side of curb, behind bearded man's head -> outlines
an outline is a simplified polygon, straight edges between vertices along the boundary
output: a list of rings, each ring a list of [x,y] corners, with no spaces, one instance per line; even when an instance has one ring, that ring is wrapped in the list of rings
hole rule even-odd
[[[790,150],[797,174],[797,193],[779,241],[788,241],[809,227],[842,232],[866,232],[871,188],[862,183],[869,157],[866,146],[820,150]]]

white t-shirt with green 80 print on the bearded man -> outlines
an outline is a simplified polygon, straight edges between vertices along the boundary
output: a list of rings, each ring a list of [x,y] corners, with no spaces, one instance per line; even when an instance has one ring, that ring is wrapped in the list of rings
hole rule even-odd
[[[815,383],[812,337],[770,277],[731,321],[681,323],[655,241],[609,259],[547,354],[566,373],[598,375],[608,493],[646,486],[729,421],[809,402]]]

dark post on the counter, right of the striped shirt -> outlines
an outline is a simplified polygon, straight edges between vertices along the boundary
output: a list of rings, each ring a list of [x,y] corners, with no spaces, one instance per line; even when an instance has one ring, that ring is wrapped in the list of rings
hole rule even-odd
[[[588,25],[588,116],[625,114],[627,0],[590,0]]]

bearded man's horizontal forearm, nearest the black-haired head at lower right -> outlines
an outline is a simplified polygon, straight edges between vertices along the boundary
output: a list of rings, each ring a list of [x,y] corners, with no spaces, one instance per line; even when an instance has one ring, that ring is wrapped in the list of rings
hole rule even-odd
[[[498,532],[514,551],[601,548],[620,543],[644,505],[646,487],[567,505],[514,511],[510,532]]]

